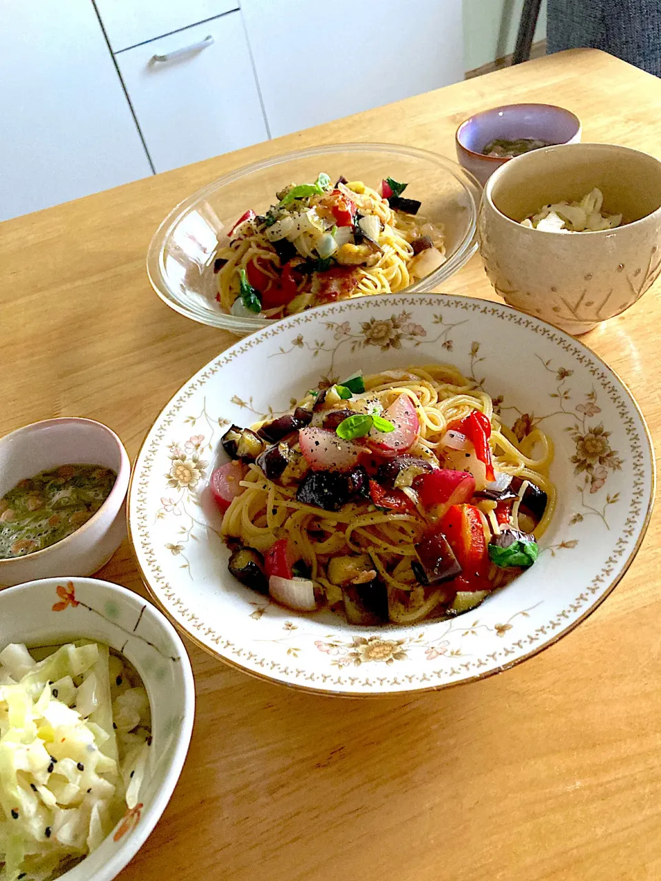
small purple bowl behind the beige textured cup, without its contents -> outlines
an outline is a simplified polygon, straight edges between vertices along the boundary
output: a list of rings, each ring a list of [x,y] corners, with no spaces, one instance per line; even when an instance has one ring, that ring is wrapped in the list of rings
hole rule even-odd
[[[576,144],[581,140],[581,121],[570,110],[553,104],[507,104],[471,116],[455,135],[457,159],[483,186],[511,158],[481,152],[495,137],[534,137],[550,144]]]

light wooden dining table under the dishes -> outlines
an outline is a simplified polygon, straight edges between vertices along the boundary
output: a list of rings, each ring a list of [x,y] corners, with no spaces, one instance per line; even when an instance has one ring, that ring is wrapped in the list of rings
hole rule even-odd
[[[193,190],[310,144],[390,141],[454,158],[459,122],[516,100],[559,103],[583,120],[583,140],[661,159],[659,81],[578,50],[4,223],[0,433],[87,416],[135,456],[175,390],[234,341],[168,309],[146,278],[152,232]],[[443,289],[495,299],[478,258]],[[628,382],[657,445],[659,291],[583,337]],[[553,648],[420,697],[316,697],[188,643],[197,679],[189,758],[121,877],[661,878],[660,539],[657,508],[618,589]],[[100,577],[144,593],[128,544]]]

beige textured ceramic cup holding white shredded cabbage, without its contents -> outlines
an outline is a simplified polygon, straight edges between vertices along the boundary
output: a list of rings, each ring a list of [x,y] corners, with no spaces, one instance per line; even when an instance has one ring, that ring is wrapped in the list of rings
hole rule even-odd
[[[549,203],[597,187],[623,226],[546,233],[521,226]],[[486,182],[479,249],[503,299],[569,333],[620,315],[661,272],[661,162],[613,144],[561,144],[525,153]]]

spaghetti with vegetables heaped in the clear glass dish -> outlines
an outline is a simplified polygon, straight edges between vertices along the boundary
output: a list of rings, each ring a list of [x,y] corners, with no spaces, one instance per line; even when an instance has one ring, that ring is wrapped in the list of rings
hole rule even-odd
[[[416,215],[408,184],[377,189],[328,174],[290,184],[264,216],[246,211],[214,258],[217,300],[232,315],[279,318],[364,294],[403,291],[445,261],[442,226]]]

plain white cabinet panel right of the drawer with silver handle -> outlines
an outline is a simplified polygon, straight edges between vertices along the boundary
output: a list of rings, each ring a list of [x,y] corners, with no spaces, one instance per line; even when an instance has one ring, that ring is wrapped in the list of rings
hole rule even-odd
[[[271,137],[464,78],[462,0],[241,0],[241,10]]]

